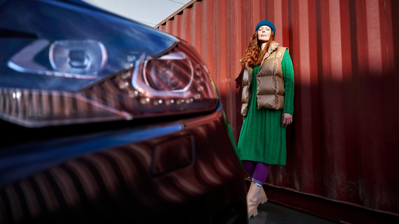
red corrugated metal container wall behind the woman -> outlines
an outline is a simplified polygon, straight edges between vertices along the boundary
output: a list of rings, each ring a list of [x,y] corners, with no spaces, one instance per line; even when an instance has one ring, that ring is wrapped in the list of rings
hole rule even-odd
[[[157,26],[197,48],[238,140],[238,60],[272,21],[290,48],[295,111],[287,165],[266,182],[399,214],[398,12],[398,0],[202,0]]]

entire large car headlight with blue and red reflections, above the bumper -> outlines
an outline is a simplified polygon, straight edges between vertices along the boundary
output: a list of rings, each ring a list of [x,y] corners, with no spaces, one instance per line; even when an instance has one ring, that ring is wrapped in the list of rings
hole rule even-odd
[[[21,1],[0,8],[0,29],[23,30],[0,38],[1,119],[42,127],[216,109],[189,44],[75,4]]]

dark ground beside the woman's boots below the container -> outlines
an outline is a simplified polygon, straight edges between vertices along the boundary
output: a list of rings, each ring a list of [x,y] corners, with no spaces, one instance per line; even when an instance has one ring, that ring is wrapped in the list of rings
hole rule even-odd
[[[335,224],[335,222],[266,202],[258,206],[258,215],[251,217],[248,224]]]

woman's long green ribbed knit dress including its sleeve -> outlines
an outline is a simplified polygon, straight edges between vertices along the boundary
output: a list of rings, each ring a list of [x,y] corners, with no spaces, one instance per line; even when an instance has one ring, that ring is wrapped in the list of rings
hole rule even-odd
[[[284,80],[283,110],[262,108],[257,110],[256,85],[250,86],[251,99],[248,113],[243,117],[238,140],[240,160],[285,165],[286,163],[286,127],[281,127],[281,114],[294,112],[294,69],[288,51],[281,62]],[[256,83],[256,74],[260,66],[252,70],[252,83]]]

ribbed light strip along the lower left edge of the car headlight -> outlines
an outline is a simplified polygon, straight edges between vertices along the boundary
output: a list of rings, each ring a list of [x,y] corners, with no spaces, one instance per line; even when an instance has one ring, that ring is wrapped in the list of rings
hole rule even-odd
[[[0,118],[26,127],[42,127],[130,120],[133,116],[79,94],[0,88]]]

